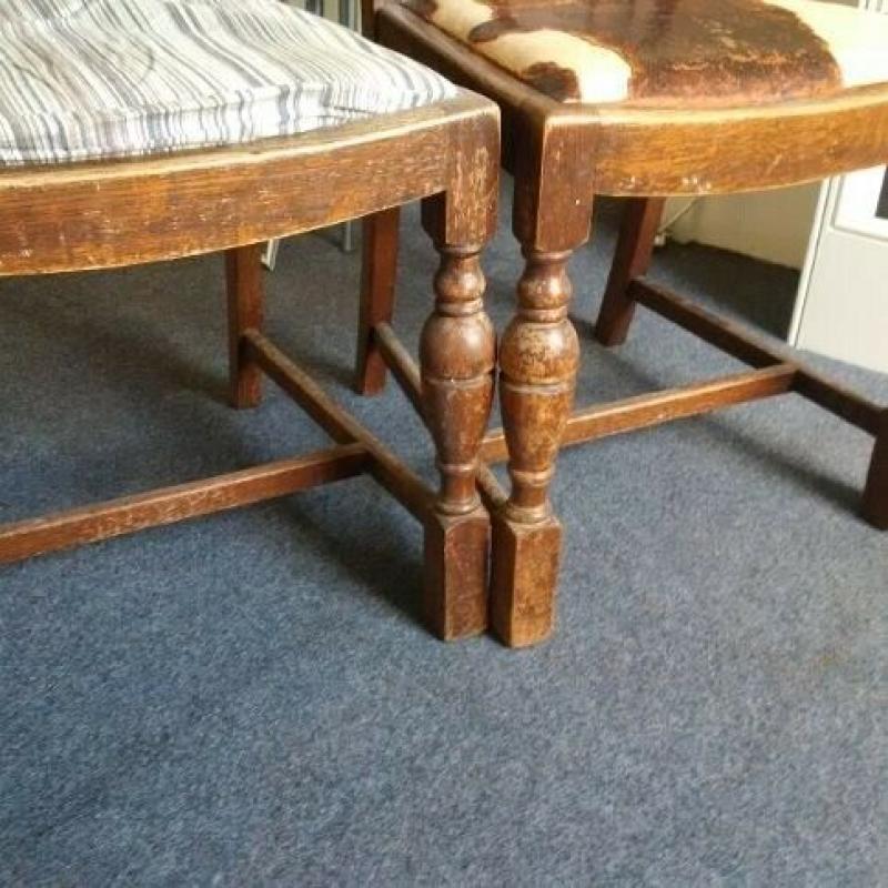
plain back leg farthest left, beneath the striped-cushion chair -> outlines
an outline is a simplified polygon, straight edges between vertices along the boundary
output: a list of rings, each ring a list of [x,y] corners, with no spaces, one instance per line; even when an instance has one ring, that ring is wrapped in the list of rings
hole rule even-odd
[[[262,401],[262,372],[246,356],[243,334],[261,330],[264,315],[262,244],[225,252],[229,301],[229,398],[238,408]]]

